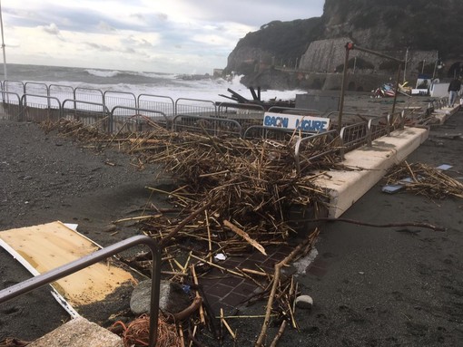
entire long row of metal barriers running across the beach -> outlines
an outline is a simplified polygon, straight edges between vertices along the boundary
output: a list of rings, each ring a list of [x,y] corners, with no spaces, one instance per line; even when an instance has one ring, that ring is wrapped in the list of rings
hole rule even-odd
[[[153,122],[167,130],[206,131],[212,136],[232,135],[247,139],[292,139],[294,132],[263,126],[262,116],[265,110],[261,105],[253,103],[231,104],[187,98],[173,101],[172,98],[162,95],[141,94],[135,97],[130,92],[103,92],[92,88],[72,88],[57,84],[46,86],[44,83],[35,82],[4,81],[1,86],[3,91],[8,90],[2,92],[4,103],[0,109],[0,118],[4,119],[7,118],[5,115],[12,117],[9,112],[19,114],[18,120],[21,120],[22,116],[26,120],[55,120],[61,116],[81,120],[86,126],[96,126],[109,133],[121,130],[143,131],[153,128]],[[46,92],[46,95],[26,93],[26,90],[33,89]],[[63,96],[70,95],[72,98],[64,99],[61,106],[56,106]],[[42,102],[33,102],[37,99],[41,99]],[[447,100],[441,98],[433,102],[435,108],[441,108]],[[69,107],[69,103],[73,106]],[[110,108],[108,105],[113,107]],[[109,111],[110,109],[112,111]],[[332,120],[331,129],[339,116],[339,111],[321,114],[317,110],[281,106],[273,106],[269,111],[325,117]],[[338,149],[341,158],[350,149],[362,145],[370,146],[372,140],[385,134],[389,135],[392,130],[404,129],[408,117],[411,117],[405,111],[390,114],[387,119],[386,116],[353,112],[344,112],[343,116],[339,127]],[[298,136],[303,138],[311,138],[310,135],[310,132],[298,132]]]

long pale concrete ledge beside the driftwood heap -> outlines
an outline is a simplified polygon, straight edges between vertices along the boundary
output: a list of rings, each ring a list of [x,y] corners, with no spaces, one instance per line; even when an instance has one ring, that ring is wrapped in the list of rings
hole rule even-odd
[[[347,153],[342,163],[351,170],[327,171],[324,177],[320,176],[314,182],[320,188],[329,190],[329,217],[340,217],[393,165],[407,159],[410,153],[418,149],[428,136],[428,129],[406,128],[373,141],[371,147]]]

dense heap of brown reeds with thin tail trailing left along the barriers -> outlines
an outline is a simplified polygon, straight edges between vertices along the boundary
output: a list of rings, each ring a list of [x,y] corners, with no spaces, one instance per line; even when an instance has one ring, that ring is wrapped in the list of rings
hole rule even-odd
[[[214,234],[216,246],[241,252],[250,246],[286,240],[295,231],[291,213],[317,209],[327,201],[326,192],[312,184],[310,171],[332,168],[340,161],[334,154],[320,155],[330,145],[320,138],[301,146],[300,158],[305,159],[305,164],[301,172],[296,172],[297,133],[283,142],[173,132],[154,122],[150,126],[153,130],[149,132],[121,131],[113,136],[78,120],[62,119],[46,123],[43,128],[92,143],[96,149],[124,150],[139,169],[147,164],[164,168],[165,176],[173,178],[178,188],[149,189],[171,202],[170,214],[153,207],[153,217],[141,219],[146,235],[159,239],[170,235],[169,240],[163,240],[163,246],[184,236],[208,240],[211,245]],[[307,159],[316,155],[319,157],[308,164]],[[176,230],[178,221],[194,211],[201,213],[196,213],[188,226]]]

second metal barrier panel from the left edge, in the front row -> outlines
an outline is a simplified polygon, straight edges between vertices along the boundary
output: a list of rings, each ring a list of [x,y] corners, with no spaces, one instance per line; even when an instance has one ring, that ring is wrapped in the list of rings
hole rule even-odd
[[[39,102],[45,100],[46,102]],[[23,94],[21,120],[59,120],[62,117],[61,102],[51,96]]]

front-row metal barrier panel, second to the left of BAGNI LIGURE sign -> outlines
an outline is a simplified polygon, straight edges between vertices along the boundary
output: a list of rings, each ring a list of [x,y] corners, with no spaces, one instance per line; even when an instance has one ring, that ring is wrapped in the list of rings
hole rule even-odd
[[[161,126],[165,129],[172,128],[172,124],[163,112],[133,107],[114,107],[111,111],[111,120],[112,132],[117,133],[123,130],[128,132],[153,130],[154,125]]]

